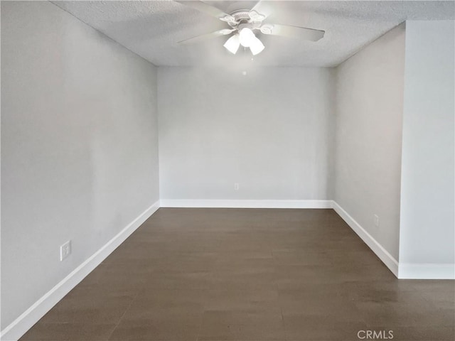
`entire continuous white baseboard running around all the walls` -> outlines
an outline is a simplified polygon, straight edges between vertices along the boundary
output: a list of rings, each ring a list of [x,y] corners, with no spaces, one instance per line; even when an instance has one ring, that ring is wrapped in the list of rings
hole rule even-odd
[[[398,262],[379,244],[348,212],[333,200],[161,200],[155,202],[109,240],[95,254],[77,266],[60,283],[33,303],[24,313],[0,332],[0,340],[16,341],[27,332],[45,313],[80,283],[90,272],[101,264],[109,254],[119,247],[141,224],[159,207],[227,207],[227,208],[333,208],[356,234],[375,252],[382,262],[398,278],[455,279],[455,264],[398,264]]]

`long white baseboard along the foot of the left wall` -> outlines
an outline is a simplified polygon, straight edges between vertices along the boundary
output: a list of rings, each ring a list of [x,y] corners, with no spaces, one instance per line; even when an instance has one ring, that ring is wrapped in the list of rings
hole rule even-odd
[[[125,239],[129,237],[142,223],[159,209],[159,201],[155,202],[149,208],[133,220],[127,227],[122,229],[115,237],[109,240],[95,254],[77,266],[68,276],[63,278],[60,283],[54,286],[48,293],[45,293],[36,303],[33,303],[22,315],[14,320],[0,333],[0,340],[16,341],[27,332],[35,323],[42,318],[55,304],[58,303],[67,293],[69,293],[82,279],[95,269],[109,254],[117,249]]]

